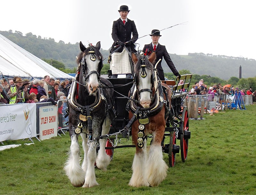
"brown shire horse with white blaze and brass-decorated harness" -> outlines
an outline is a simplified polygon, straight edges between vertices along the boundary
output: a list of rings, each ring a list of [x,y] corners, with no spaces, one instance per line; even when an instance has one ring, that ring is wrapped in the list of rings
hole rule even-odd
[[[155,52],[149,58],[143,52],[138,58],[132,55],[135,84],[130,90],[130,97],[137,103],[130,101],[129,118],[136,119],[132,124],[132,141],[136,145],[136,153],[129,185],[134,187],[157,186],[167,176],[168,166],[163,160],[161,141],[168,118],[166,112],[171,107],[172,91],[158,78],[152,64],[155,57]],[[153,139],[147,155],[148,134],[152,134]]]

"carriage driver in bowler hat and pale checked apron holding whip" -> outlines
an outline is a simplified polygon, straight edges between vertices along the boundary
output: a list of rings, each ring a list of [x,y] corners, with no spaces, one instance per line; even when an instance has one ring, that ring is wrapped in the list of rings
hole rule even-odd
[[[134,49],[133,43],[138,39],[138,32],[133,20],[127,18],[129,9],[127,5],[120,6],[120,18],[113,22],[112,38],[114,43],[110,52],[111,55],[110,70],[112,70],[112,78],[117,78],[118,74],[126,74],[126,78],[132,77],[129,53],[137,51]],[[132,36],[132,38],[131,38]],[[124,45],[125,42],[129,41]],[[114,48],[115,46],[119,46]],[[127,48],[127,50],[124,48]],[[129,52],[129,53],[128,53]]]

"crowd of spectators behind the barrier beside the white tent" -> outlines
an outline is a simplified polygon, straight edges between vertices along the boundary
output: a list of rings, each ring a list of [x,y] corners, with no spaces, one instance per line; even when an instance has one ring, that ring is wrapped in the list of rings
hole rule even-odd
[[[65,79],[63,82],[50,78],[48,75],[44,79],[21,79],[13,77],[0,80],[0,103],[36,103],[36,102],[52,102],[57,106],[56,101],[60,100],[60,96],[67,97],[67,86],[71,83]],[[63,99],[63,97],[62,97]]]

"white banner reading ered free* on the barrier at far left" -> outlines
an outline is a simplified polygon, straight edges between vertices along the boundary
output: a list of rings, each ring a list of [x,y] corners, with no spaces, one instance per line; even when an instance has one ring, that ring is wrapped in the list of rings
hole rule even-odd
[[[36,137],[36,104],[0,106],[0,141]]]

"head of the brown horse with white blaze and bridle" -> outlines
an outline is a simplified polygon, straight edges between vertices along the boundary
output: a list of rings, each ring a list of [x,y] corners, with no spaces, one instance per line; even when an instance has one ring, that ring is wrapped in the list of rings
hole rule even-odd
[[[149,57],[145,56],[144,53],[141,52],[138,58],[134,53],[132,53],[132,60],[135,64],[134,80],[137,86],[140,104],[143,108],[149,108],[152,101],[155,79],[155,75],[153,73],[154,66],[152,63],[155,61],[155,58],[155,52],[152,52]]]

